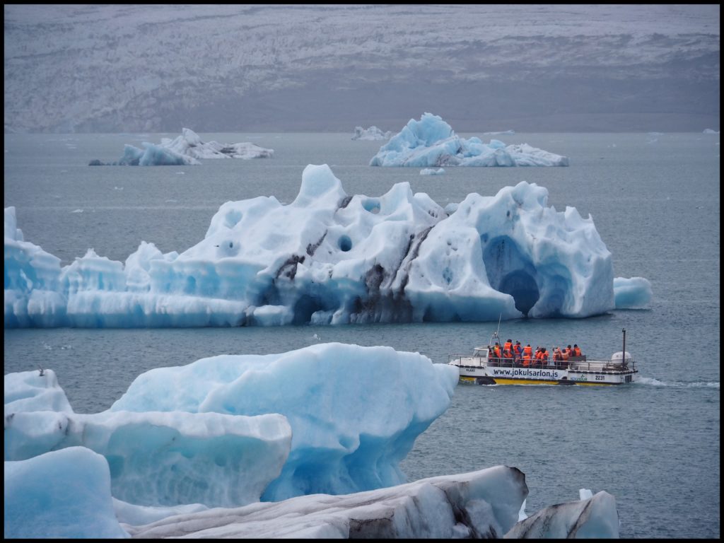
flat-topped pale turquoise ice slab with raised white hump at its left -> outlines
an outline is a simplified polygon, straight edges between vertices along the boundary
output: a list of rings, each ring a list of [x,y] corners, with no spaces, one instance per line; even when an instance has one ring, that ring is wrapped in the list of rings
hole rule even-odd
[[[54,372],[44,373],[5,376],[5,460],[87,447],[108,460],[119,500],[209,507],[258,501],[287,460],[292,432],[279,414],[73,413]]]

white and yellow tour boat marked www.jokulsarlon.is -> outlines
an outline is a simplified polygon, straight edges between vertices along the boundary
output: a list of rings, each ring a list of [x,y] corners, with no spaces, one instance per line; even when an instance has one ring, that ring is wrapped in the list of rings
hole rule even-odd
[[[631,354],[626,352],[626,329],[622,332],[623,349],[608,360],[583,355],[536,365],[526,364],[522,359],[489,357],[489,348],[496,342],[503,344],[496,331],[489,345],[474,348],[471,355],[449,355],[448,363],[458,367],[459,382],[465,384],[626,384],[633,382],[638,371]]]

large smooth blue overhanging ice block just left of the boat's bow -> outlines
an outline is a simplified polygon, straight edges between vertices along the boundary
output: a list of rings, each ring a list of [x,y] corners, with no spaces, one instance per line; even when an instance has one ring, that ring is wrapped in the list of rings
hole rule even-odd
[[[405,482],[400,461],[445,412],[457,382],[454,368],[418,353],[319,343],[147,371],[109,411],[280,413],[292,427],[291,451],[262,497],[277,501]]]

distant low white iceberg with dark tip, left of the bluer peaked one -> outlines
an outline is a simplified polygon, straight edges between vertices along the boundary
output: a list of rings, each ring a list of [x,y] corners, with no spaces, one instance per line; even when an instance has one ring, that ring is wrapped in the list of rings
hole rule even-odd
[[[143,149],[126,145],[123,156],[117,162],[106,164],[94,159],[88,165],[189,166],[201,164],[199,159],[263,159],[273,155],[273,149],[265,149],[254,143],[204,143],[196,132],[182,128],[181,134],[173,140],[161,138],[159,145],[143,142]]]

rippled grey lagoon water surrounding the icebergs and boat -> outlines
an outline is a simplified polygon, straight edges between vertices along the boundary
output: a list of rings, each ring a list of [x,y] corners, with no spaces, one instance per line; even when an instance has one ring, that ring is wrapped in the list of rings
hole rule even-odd
[[[193,128],[193,127],[192,127]],[[703,128],[703,127],[702,127]],[[704,133],[485,136],[568,156],[570,167],[369,167],[384,142],[350,134],[201,134],[251,141],[271,159],[189,167],[88,167],[123,145],[177,134],[14,135],[4,138],[4,206],[25,240],[70,264],[93,248],[125,261],[139,243],[182,252],[203,238],[225,201],[296,196],[307,164],[329,164],[350,194],[382,195],[396,182],[442,206],[494,195],[525,180],[549,205],[591,214],[615,277],[646,277],[649,308],[589,319],[504,321],[501,335],[531,345],[576,342],[637,361],[628,387],[458,385],[448,411],[403,462],[410,480],[505,464],[526,473],[528,513],[613,494],[622,538],[720,536],[720,146]],[[4,332],[4,371],[56,371],[78,413],[104,411],[136,376],[206,356],[281,353],[313,342],[390,345],[436,363],[487,342],[497,322],[225,329],[17,329]],[[384,375],[380,379],[385,379]]]

